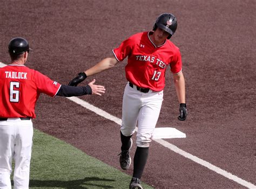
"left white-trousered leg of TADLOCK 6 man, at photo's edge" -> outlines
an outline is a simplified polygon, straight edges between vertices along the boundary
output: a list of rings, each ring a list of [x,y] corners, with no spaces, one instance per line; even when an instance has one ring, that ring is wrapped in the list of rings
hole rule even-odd
[[[11,189],[11,164],[14,150],[14,129],[8,121],[0,121],[0,188]]]

